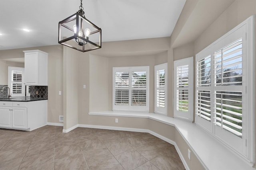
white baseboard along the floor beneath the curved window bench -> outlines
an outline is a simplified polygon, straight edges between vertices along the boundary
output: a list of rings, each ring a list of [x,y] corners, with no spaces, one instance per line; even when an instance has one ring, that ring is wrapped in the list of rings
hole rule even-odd
[[[148,129],[136,129],[136,128],[128,128],[128,127],[114,127],[114,126],[101,126],[101,125],[84,125],[84,124],[78,124],[78,127],[150,133],[151,135],[154,135],[155,137],[158,137],[158,138],[174,145],[175,149],[177,150],[177,152],[180,156],[180,159],[181,159],[184,167],[186,168],[186,170],[190,170],[189,167],[188,167],[188,164],[186,163],[184,157],[182,156],[182,154],[180,152],[180,149],[178,148],[178,145],[176,144],[176,142],[174,142],[174,141],[172,141],[172,140],[170,140],[170,139],[168,139],[168,138],[166,138],[162,135],[159,135],[158,133],[150,131]]]

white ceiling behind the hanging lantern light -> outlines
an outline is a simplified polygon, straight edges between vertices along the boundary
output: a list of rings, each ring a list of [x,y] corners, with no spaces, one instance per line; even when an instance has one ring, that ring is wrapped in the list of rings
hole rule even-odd
[[[102,41],[168,37],[186,0],[83,0],[85,16],[102,29]],[[1,0],[0,50],[58,44],[58,22],[80,0]],[[23,31],[29,29],[30,32]]]

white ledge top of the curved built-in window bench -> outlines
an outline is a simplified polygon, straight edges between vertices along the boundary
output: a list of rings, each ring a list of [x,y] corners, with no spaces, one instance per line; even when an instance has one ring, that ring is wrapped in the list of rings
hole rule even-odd
[[[104,111],[89,113],[89,115],[100,115],[100,116],[114,116],[114,117],[138,117],[138,118],[148,118],[154,121],[158,121],[176,128],[176,131],[182,136],[188,149],[191,150],[196,158],[201,162],[202,167],[209,170],[255,170],[252,165],[246,162],[244,159],[239,157],[234,151],[226,147],[223,143],[215,139],[208,132],[198,127],[195,123],[180,120],[177,118],[167,117],[165,115],[159,115],[155,113],[145,113],[145,112],[127,112],[127,111]],[[113,127],[110,127],[110,129]],[[145,129],[144,129],[145,130]],[[151,129],[151,131],[154,131]],[[145,132],[142,130],[142,132]],[[150,131],[149,131],[150,132]],[[156,133],[152,133],[156,135]],[[159,137],[160,135],[158,135]],[[162,139],[166,139],[163,137]],[[174,139],[174,138],[173,138]],[[189,167],[188,161],[194,161],[188,159],[188,151],[183,155],[178,148],[176,142],[166,140],[169,143],[175,145],[182,162],[186,169],[193,169]],[[186,157],[186,161],[185,158]],[[194,164],[194,163],[192,163]]]

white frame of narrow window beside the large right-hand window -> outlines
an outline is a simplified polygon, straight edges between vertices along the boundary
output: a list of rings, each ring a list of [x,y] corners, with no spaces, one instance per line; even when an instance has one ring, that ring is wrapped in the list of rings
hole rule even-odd
[[[174,95],[173,95],[173,115],[187,121],[193,121],[194,113],[194,57],[180,59],[173,62],[174,65]],[[188,87],[177,87],[177,67],[188,65]],[[177,110],[177,90],[188,90],[188,112]]]

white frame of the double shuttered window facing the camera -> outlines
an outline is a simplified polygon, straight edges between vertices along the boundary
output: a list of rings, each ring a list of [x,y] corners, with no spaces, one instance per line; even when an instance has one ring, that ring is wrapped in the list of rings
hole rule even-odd
[[[126,88],[119,88],[120,90],[129,90],[129,104],[128,105],[115,105],[115,92],[116,92],[116,72],[129,72],[129,86]],[[146,106],[134,106],[132,105],[132,90],[136,87],[132,87],[132,72],[146,72],[146,87],[142,90],[146,90]],[[136,89],[137,90],[137,89]],[[113,67],[112,69],[112,110],[113,111],[149,111],[149,66],[130,66],[130,67]]]

